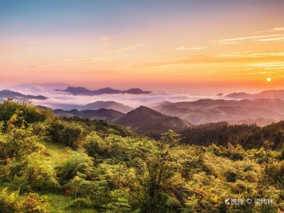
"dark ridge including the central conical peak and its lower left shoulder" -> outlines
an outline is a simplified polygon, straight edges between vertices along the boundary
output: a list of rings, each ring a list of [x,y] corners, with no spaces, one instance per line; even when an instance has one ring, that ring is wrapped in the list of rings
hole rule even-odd
[[[45,107],[38,106],[40,109]],[[163,115],[150,108],[140,106],[127,114],[115,110],[99,109],[99,110],[54,110],[55,115],[59,117],[79,117],[89,118],[91,120],[105,120],[108,122],[120,124],[136,133],[159,138],[161,133],[168,129],[180,132],[192,126],[192,124],[183,121],[180,118]]]

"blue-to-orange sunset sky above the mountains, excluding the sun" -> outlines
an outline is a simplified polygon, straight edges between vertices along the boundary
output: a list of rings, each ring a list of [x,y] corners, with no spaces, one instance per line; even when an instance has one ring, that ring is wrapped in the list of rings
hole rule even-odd
[[[0,84],[284,89],[283,9],[281,0],[0,0]]]

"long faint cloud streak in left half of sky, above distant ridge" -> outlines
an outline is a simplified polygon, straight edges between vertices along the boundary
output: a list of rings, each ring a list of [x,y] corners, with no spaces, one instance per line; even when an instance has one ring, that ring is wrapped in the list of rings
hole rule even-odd
[[[123,56],[120,55],[120,56],[97,57],[97,58],[66,59],[58,63],[40,64],[40,65],[28,66],[28,68],[40,68],[45,66],[54,66],[54,65],[63,65],[63,64],[79,64],[79,63],[92,63],[100,61],[112,61],[114,58],[118,57],[123,57]]]

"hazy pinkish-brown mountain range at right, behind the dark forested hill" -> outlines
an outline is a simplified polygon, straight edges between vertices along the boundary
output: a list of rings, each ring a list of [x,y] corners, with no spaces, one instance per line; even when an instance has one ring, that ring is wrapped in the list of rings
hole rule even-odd
[[[284,100],[212,100],[189,102],[161,102],[152,109],[169,116],[176,116],[192,124],[225,121],[230,124],[256,123],[260,126],[284,119]]]

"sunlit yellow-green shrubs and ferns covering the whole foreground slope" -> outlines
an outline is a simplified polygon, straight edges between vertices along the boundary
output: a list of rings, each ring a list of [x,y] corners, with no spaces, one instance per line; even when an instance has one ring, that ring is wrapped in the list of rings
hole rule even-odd
[[[0,212],[280,212],[284,149],[189,146],[0,104]],[[225,199],[273,199],[227,205]]]

